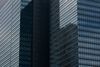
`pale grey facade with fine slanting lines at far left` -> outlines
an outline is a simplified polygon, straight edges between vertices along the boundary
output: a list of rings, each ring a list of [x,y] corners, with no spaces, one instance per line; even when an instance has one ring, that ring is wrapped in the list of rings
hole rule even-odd
[[[0,3],[4,3],[0,8],[0,67],[18,67],[20,0]]]

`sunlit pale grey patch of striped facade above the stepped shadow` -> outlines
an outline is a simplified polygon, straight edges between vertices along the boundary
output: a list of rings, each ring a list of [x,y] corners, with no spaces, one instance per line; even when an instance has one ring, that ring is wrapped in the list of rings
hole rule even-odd
[[[60,28],[77,24],[77,0],[59,0]]]

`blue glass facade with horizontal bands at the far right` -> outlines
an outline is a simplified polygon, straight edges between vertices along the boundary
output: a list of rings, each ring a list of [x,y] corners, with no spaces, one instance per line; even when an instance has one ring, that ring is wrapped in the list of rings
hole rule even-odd
[[[100,1],[78,1],[79,67],[100,67]]]

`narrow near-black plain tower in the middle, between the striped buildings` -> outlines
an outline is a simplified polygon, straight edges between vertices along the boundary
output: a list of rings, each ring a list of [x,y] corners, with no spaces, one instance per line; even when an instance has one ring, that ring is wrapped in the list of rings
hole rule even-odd
[[[49,0],[33,6],[33,67],[49,67]]]

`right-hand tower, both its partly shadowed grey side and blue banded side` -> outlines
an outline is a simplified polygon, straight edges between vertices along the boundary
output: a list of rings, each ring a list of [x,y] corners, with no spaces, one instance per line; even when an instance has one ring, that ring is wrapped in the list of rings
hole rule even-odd
[[[100,1],[50,3],[50,66],[100,67]]]

